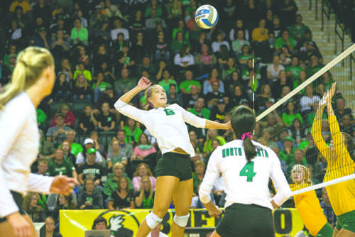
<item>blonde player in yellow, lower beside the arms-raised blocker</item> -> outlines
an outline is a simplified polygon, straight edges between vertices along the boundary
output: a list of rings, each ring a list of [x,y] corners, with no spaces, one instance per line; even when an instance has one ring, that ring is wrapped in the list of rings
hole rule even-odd
[[[307,168],[304,165],[295,165],[291,171],[294,184],[290,184],[292,191],[312,185]],[[301,219],[312,236],[332,237],[333,228],[324,216],[315,190],[297,194],[294,197],[295,207]]]

